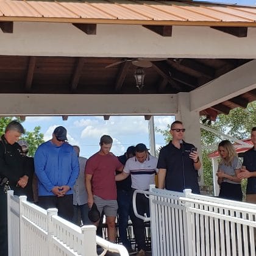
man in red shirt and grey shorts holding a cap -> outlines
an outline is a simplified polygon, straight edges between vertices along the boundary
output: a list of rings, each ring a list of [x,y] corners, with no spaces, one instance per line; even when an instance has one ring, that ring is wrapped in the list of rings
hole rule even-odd
[[[99,145],[101,149],[92,155],[85,166],[85,187],[88,193],[88,206],[93,202],[100,213],[104,210],[107,223],[108,240],[115,242],[115,219],[118,210],[116,201],[115,171],[123,171],[123,165],[113,154],[109,154],[113,140],[103,135]],[[98,222],[94,223],[96,226]]]

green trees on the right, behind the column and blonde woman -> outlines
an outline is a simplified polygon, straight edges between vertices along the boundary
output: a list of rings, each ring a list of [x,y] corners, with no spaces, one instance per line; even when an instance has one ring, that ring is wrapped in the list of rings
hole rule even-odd
[[[249,138],[252,127],[256,124],[256,101],[247,105],[247,108],[234,108],[230,110],[229,115],[218,115],[215,122],[212,122],[211,127],[219,132],[227,134],[231,137],[243,140]],[[202,116],[200,119],[204,119]],[[156,128],[156,132],[162,133],[166,143],[171,140],[169,134],[170,126],[166,130]],[[202,163],[204,166],[204,185],[213,185],[212,162],[208,158],[210,152],[215,151],[218,143],[226,138],[221,135],[216,135],[208,130],[201,129],[201,144],[202,144]],[[233,142],[233,141],[231,141]],[[243,180],[243,190],[246,187],[246,180]]]

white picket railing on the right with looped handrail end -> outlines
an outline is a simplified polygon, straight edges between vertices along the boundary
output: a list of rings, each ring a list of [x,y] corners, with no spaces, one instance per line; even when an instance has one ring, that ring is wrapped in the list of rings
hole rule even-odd
[[[256,206],[218,197],[160,190],[149,196],[152,256],[255,256]]]

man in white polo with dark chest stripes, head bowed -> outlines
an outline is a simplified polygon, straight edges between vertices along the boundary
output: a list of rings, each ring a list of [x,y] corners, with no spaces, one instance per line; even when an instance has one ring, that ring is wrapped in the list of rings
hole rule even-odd
[[[135,146],[135,157],[129,158],[124,166],[124,171],[116,175],[116,181],[126,179],[129,175],[132,177],[132,189],[148,190],[150,184],[155,184],[155,173],[157,169],[157,158],[148,153],[145,144],[140,143]],[[149,216],[149,199],[144,194],[137,194],[136,198],[137,212],[144,216]],[[132,211],[132,219],[135,240],[138,245],[138,254],[146,255],[146,240],[144,234],[144,221],[135,216]]]

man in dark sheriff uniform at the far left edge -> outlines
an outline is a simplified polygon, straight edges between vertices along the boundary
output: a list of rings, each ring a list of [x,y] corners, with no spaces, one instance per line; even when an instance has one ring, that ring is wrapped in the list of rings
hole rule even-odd
[[[6,187],[9,183],[10,189],[18,196],[24,193],[27,186],[29,173],[26,173],[24,157],[21,146],[16,143],[24,128],[16,121],[10,122],[4,135],[0,140],[0,254],[8,255],[7,240],[7,195]]]

